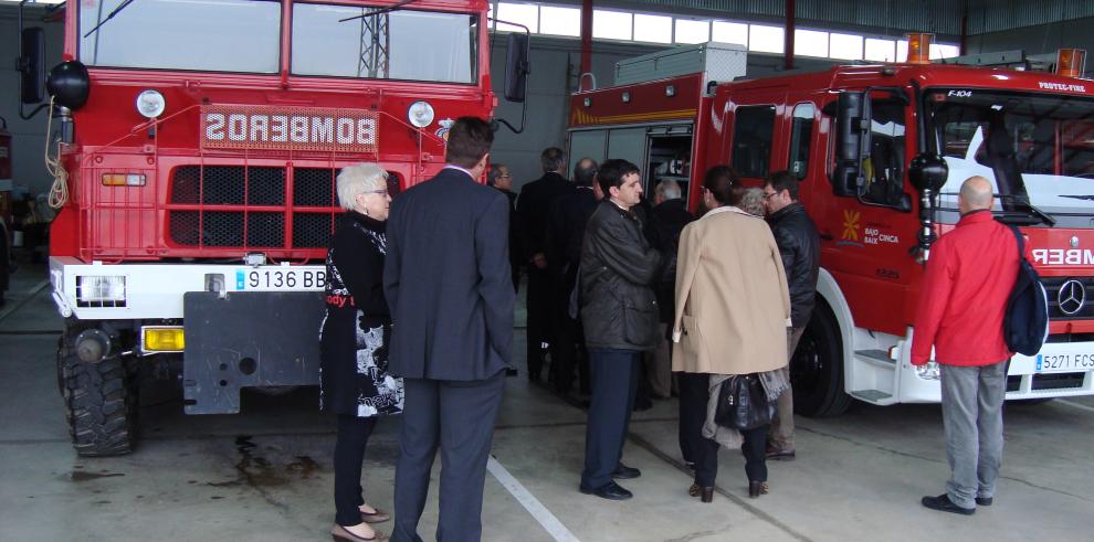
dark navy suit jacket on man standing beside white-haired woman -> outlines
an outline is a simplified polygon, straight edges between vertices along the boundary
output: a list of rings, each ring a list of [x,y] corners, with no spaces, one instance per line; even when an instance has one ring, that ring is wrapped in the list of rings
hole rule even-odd
[[[472,381],[509,364],[508,221],[505,194],[454,168],[391,202],[383,291],[392,374]]]

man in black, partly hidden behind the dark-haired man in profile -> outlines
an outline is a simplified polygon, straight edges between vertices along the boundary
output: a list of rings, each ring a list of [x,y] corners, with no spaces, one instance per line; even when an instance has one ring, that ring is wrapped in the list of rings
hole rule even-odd
[[[589,359],[580,319],[569,315],[570,297],[577,287],[585,225],[600,198],[593,189],[597,162],[582,158],[574,166],[574,192],[555,200],[547,217],[547,268],[551,273],[551,374],[555,391],[566,394],[574,383],[574,368],[580,363],[581,393],[589,393]],[[580,362],[578,358],[580,354]]]

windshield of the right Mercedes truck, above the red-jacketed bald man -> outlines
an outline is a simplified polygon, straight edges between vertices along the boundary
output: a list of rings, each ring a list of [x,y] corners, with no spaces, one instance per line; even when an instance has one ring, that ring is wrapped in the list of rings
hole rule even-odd
[[[981,176],[1000,195],[999,212],[1024,210],[1035,222],[1090,227],[1094,99],[936,89],[927,94],[927,104],[935,142],[949,166],[939,196],[944,211],[957,210],[965,179]]]

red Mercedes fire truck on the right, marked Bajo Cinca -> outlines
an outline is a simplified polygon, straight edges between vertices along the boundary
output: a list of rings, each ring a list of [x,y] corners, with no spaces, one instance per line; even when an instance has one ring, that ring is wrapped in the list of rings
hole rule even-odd
[[[822,268],[791,374],[796,410],[813,416],[852,397],[939,401],[937,366],[909,362],[923,264],[958,221],[961,182],[983,176],[1051,305],[1048,343],[1011,360],[1007,397],[1092,394],[1094,82],[1077,78],[1080,53],[1059,62],[1071,76],[919,62],[754,79],[732,45],[655,53],[620,63],[623,84],[572,95],[570,156],[629,159],[648,193],[676,180],[692,210],[711,166],[751,185],[778,170],[801,179]]]

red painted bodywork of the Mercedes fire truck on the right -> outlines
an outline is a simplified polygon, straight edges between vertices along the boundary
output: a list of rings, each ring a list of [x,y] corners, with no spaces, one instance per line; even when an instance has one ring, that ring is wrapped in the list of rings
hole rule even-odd
[[[638,126],[662,120],[694,123],[691,182],[687,188],[688,208],[697,211],[703,172],[714,164],[729,164],[734,146],[733,127],[740,107],[767,105],[775,110],[775,128],[768,171],[789,169],[793,109],[812,104],[813,125],[809,139],[808,170],[801,183],[800,200],[817,223],[822,236],[821,264],[834,277],[846,298],[853,322],[858,328],[904,337],[912,325],[923,265],[916,262],[914,248],[921,227],[919,198],[907,180],[907,166],[921,151],[918,148],[918,115],[915,105],[916,86],[923,92],[932,88],[992,89],[1028,92],[1041,95],[1094,97],[1094,82],[1060,77],[1053,74],[1009,70],[975,68],[948,65],[863,65],[835,66],[830,70],[796,75],[782,75],[720,84],[708,95],[698,88],[699,75],[577,93],[570,104],[570,128],[597,126]],[[669,97],[667,85],[679,89]],[[871,87],[895,87],[907,97],[905,148],[902,167],[904,192],[911,196],[911,209],[865,204],[854,196],[833,194],[831,174],[835,152],[835,120],[831,115],[840,91],[863,91]],[[621,96],[631,96],[623,103]],[[588,106],[585,104],[589,103]],[[829,113],[825,113],[825,108]],[[611,147],[610,144],[608,146]],[[652,177],[652,172],[650,173]],[[761,178],[744,177],[749,185],[760,185]],[[651,187],[652,188],[652,187]],[[1094,225],[1094,223],[1092,223]],[[942,233],[953,225],[936,226]],[[1033,251],[1063,251],[1070,247],[1094,246],[1091,227],[1023,227]],[[1044,277],[1088,277],[1094,263],[1067,265],[1066,253],[1034,253]],[[1060,257],[1060,265],[1048,265],[1048,258]],[[1075,256],[1079,257],[1079,256]],[[1070,261],[1074,262],[1075,257]],[[1081,257],[1080,257],[1081,261]],[[1094,320],[1053,320],[1052,333],[1094,332]]]

